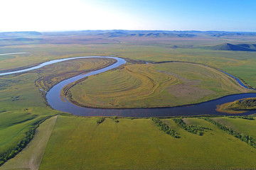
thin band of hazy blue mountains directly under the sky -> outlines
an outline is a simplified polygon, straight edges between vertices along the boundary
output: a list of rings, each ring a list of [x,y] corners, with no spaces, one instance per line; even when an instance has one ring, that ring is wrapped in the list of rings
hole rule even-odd
[[[116,37],[152,37],[152,38],[193,38],[196,36],[210,36],[215,38],[234,36],[256,36],[254,32],[227,32],[227,31],[198,31],[198,30],[74,30],[56,32],[16,31],[2,32],[0,38],[20,38],[38,36],[66,36],[66,35],[102,35],[107,38]]]

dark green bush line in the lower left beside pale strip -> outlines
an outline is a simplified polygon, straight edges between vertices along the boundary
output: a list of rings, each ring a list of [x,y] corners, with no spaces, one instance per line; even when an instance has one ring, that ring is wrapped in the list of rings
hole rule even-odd
[[[18,152],[21,152],[22,149],[24,149],[28,145],[28,143],[31,142],[31,140],[33,139],[36,133],[36,128],[38,128],[38,126],[48,118],[50,118],[50,116],[43,118],[43,120],[38,120],[36,123],[33,123],[33,126],[25,133],[26,136],[23,138],[23,140],[18,142],[18,144],[15,147],[0,154],[0,166],[7,162],[9,159],[15,157],[16,154],[18,154]]]

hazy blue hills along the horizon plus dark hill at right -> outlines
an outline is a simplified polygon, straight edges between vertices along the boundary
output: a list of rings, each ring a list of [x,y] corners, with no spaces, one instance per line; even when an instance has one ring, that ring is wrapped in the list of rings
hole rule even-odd
[[[250,43],[253,43],[256,33],[198,30],[78,30],[42,33],[36,31],[16,31],[0,33],[0,46],[29,44],[106,44],[120,43],[122,40],[155,40],[156,42],[164,40],[166,42],[175,42],[179,38],[181,38],[180,40],[220,40],[218,42],[249,38]],[[169,47],[191,48],[193,45],[171,44]],[[256,51],[255,44],[233,45],[223,43],[203,48],[208,50]]]

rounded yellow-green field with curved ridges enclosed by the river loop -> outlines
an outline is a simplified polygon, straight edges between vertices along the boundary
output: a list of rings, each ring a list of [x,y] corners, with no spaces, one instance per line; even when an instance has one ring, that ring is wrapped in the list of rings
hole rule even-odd
[[[216,69],[169,62],[130,64],[89,77],[67,96],[80,106],[146,108],[181,106],[249,91]]]

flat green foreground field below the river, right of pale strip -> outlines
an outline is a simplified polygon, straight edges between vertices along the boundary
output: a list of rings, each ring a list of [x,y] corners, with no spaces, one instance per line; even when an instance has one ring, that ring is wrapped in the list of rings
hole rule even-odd
[[[198,118],[203,136],[163,119],[181,138],[159,130],[150,119],[58,116],[40,169],[253,169],[256,151]],[[60,147],[61,146],[61,147]],[[239,153],[239,154],[238,154]]]

